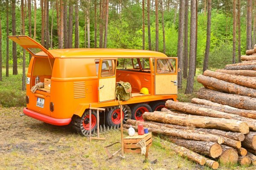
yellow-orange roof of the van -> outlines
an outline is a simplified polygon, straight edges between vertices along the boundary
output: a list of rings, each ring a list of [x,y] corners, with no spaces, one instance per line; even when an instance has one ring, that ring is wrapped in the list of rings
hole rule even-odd
[[[138,57],[167,57],[157,51],[134,50],[134,49],[111,49],[111,48],[70,48],[48,50],[54,58],[138,58]],[[44,56],[43,51],[35,54]]]

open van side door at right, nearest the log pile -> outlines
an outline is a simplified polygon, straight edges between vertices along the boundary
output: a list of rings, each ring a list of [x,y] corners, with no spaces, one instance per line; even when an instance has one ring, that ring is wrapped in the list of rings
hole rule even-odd
[[[155,94],[177,94],[177,57],[155,58]]]

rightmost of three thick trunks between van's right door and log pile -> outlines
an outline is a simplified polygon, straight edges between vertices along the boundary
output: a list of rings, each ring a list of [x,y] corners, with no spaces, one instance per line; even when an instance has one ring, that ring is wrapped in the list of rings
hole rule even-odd
[[[190,15],[190,51],[189,51],[189,76],[186,84],[186,94],[193,92],[194,76],[195,76],[195,55],[196,55],[196,0],[191,0]]]

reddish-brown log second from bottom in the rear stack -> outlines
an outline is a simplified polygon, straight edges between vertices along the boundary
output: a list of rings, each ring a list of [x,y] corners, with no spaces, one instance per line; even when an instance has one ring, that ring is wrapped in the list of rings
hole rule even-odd
[[[247,88],[241,85],[236,85],[231,82],[215,79],[213,77],[199,75],[197,81],[204,85],[206,88],[212,87],[218,91],[224,91],[229,94],[239,94],[242,96],[249,96],[256,98],[256,89]]]

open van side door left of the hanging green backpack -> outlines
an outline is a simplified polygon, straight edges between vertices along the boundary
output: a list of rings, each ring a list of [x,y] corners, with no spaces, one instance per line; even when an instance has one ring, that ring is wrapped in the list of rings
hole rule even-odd
[[[116,59],[100,59],[98,73],[99,102],[116,99]]]

